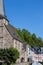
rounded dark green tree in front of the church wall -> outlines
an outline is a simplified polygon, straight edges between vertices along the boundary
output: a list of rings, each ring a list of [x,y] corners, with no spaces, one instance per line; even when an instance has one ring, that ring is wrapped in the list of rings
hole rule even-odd
[[[7,64],[15,63],[19,58],[19,52],[15,48],[0,49],[0,60]]]

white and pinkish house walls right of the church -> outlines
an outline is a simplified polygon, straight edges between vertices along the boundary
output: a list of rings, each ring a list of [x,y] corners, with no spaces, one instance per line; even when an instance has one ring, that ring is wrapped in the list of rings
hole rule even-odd
[[[28,57],[33,61],[43,61],[43,54],[35,54],[30,48],[28,48]]]

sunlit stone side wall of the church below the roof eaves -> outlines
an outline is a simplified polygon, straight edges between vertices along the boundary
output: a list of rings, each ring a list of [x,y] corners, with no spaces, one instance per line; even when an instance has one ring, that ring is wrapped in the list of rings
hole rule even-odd
[[[27,62],[28,59],[28,52],[23,47],[23,43],[14,39],[14,48],[17,48],[20,52],[20,57],[17,59],[17,62]]]

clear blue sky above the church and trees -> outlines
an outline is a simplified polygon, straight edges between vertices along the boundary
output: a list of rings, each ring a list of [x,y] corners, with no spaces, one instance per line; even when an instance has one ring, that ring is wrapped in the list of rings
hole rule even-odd
[[[5,0],[10,23],[43,38],[43,0]]]

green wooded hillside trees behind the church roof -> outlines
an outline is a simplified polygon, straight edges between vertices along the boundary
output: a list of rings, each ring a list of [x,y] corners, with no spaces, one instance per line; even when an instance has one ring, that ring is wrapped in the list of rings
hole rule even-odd
[[[28,30],[17,29],[18,34],[20,35],[21,39],[27,42],[31,46],[38,46],[43,47],[43,40],[35,35],[35,33],[31,34]]]

